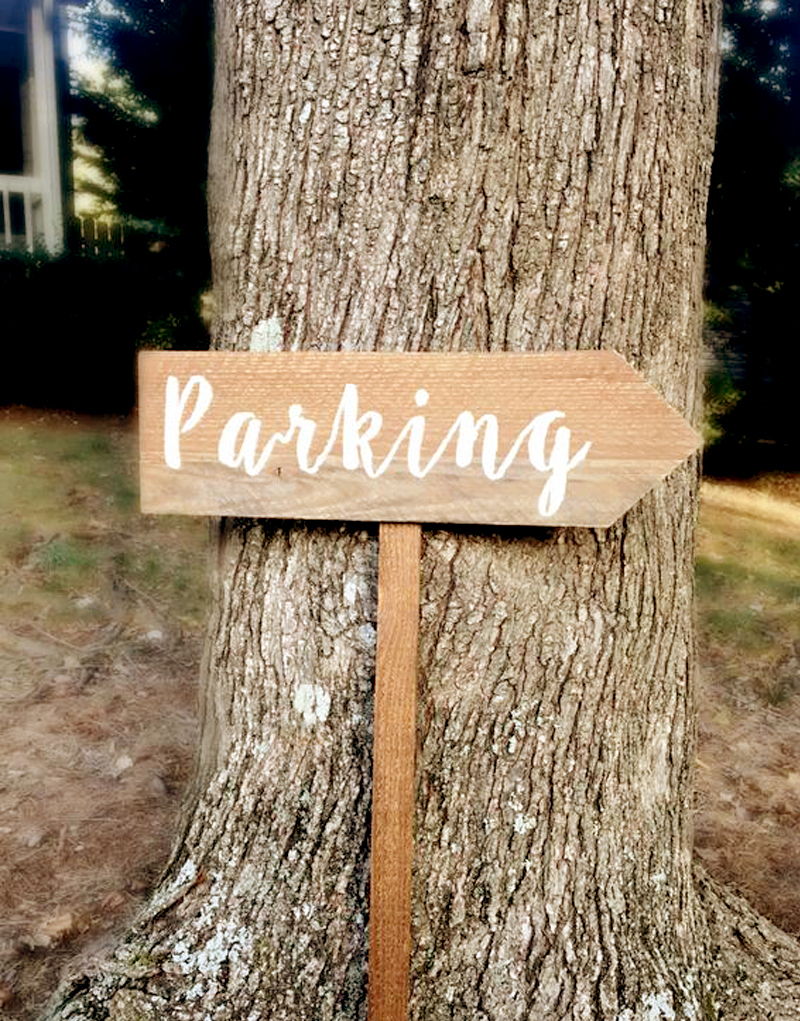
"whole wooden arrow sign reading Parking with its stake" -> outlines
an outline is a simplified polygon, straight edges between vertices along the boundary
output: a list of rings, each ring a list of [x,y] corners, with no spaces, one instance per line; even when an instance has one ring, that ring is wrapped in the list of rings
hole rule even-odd
[[[419,523],[607,527],[700,438],[609,351],[151,351],[139,378],[145,513],[381,522],[369,1018],[405,1021]]]

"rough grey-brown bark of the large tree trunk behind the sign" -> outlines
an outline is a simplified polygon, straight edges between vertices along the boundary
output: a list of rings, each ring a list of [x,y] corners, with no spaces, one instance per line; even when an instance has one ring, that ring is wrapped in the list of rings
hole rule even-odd
[[[698,414],[713,0],[218,0],[220,347],[611,348]],[[409,1017],[800,1018],[693,876],[698,466],[426,533]],[[365,1014],[371,528],[226,521],[184,831],[52,1019]]]

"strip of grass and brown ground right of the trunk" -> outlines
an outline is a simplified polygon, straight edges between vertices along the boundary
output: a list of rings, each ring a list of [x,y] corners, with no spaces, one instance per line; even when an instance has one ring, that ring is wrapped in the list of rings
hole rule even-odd
[[[695,847],[800,936],[800,477],[706,482]]]

